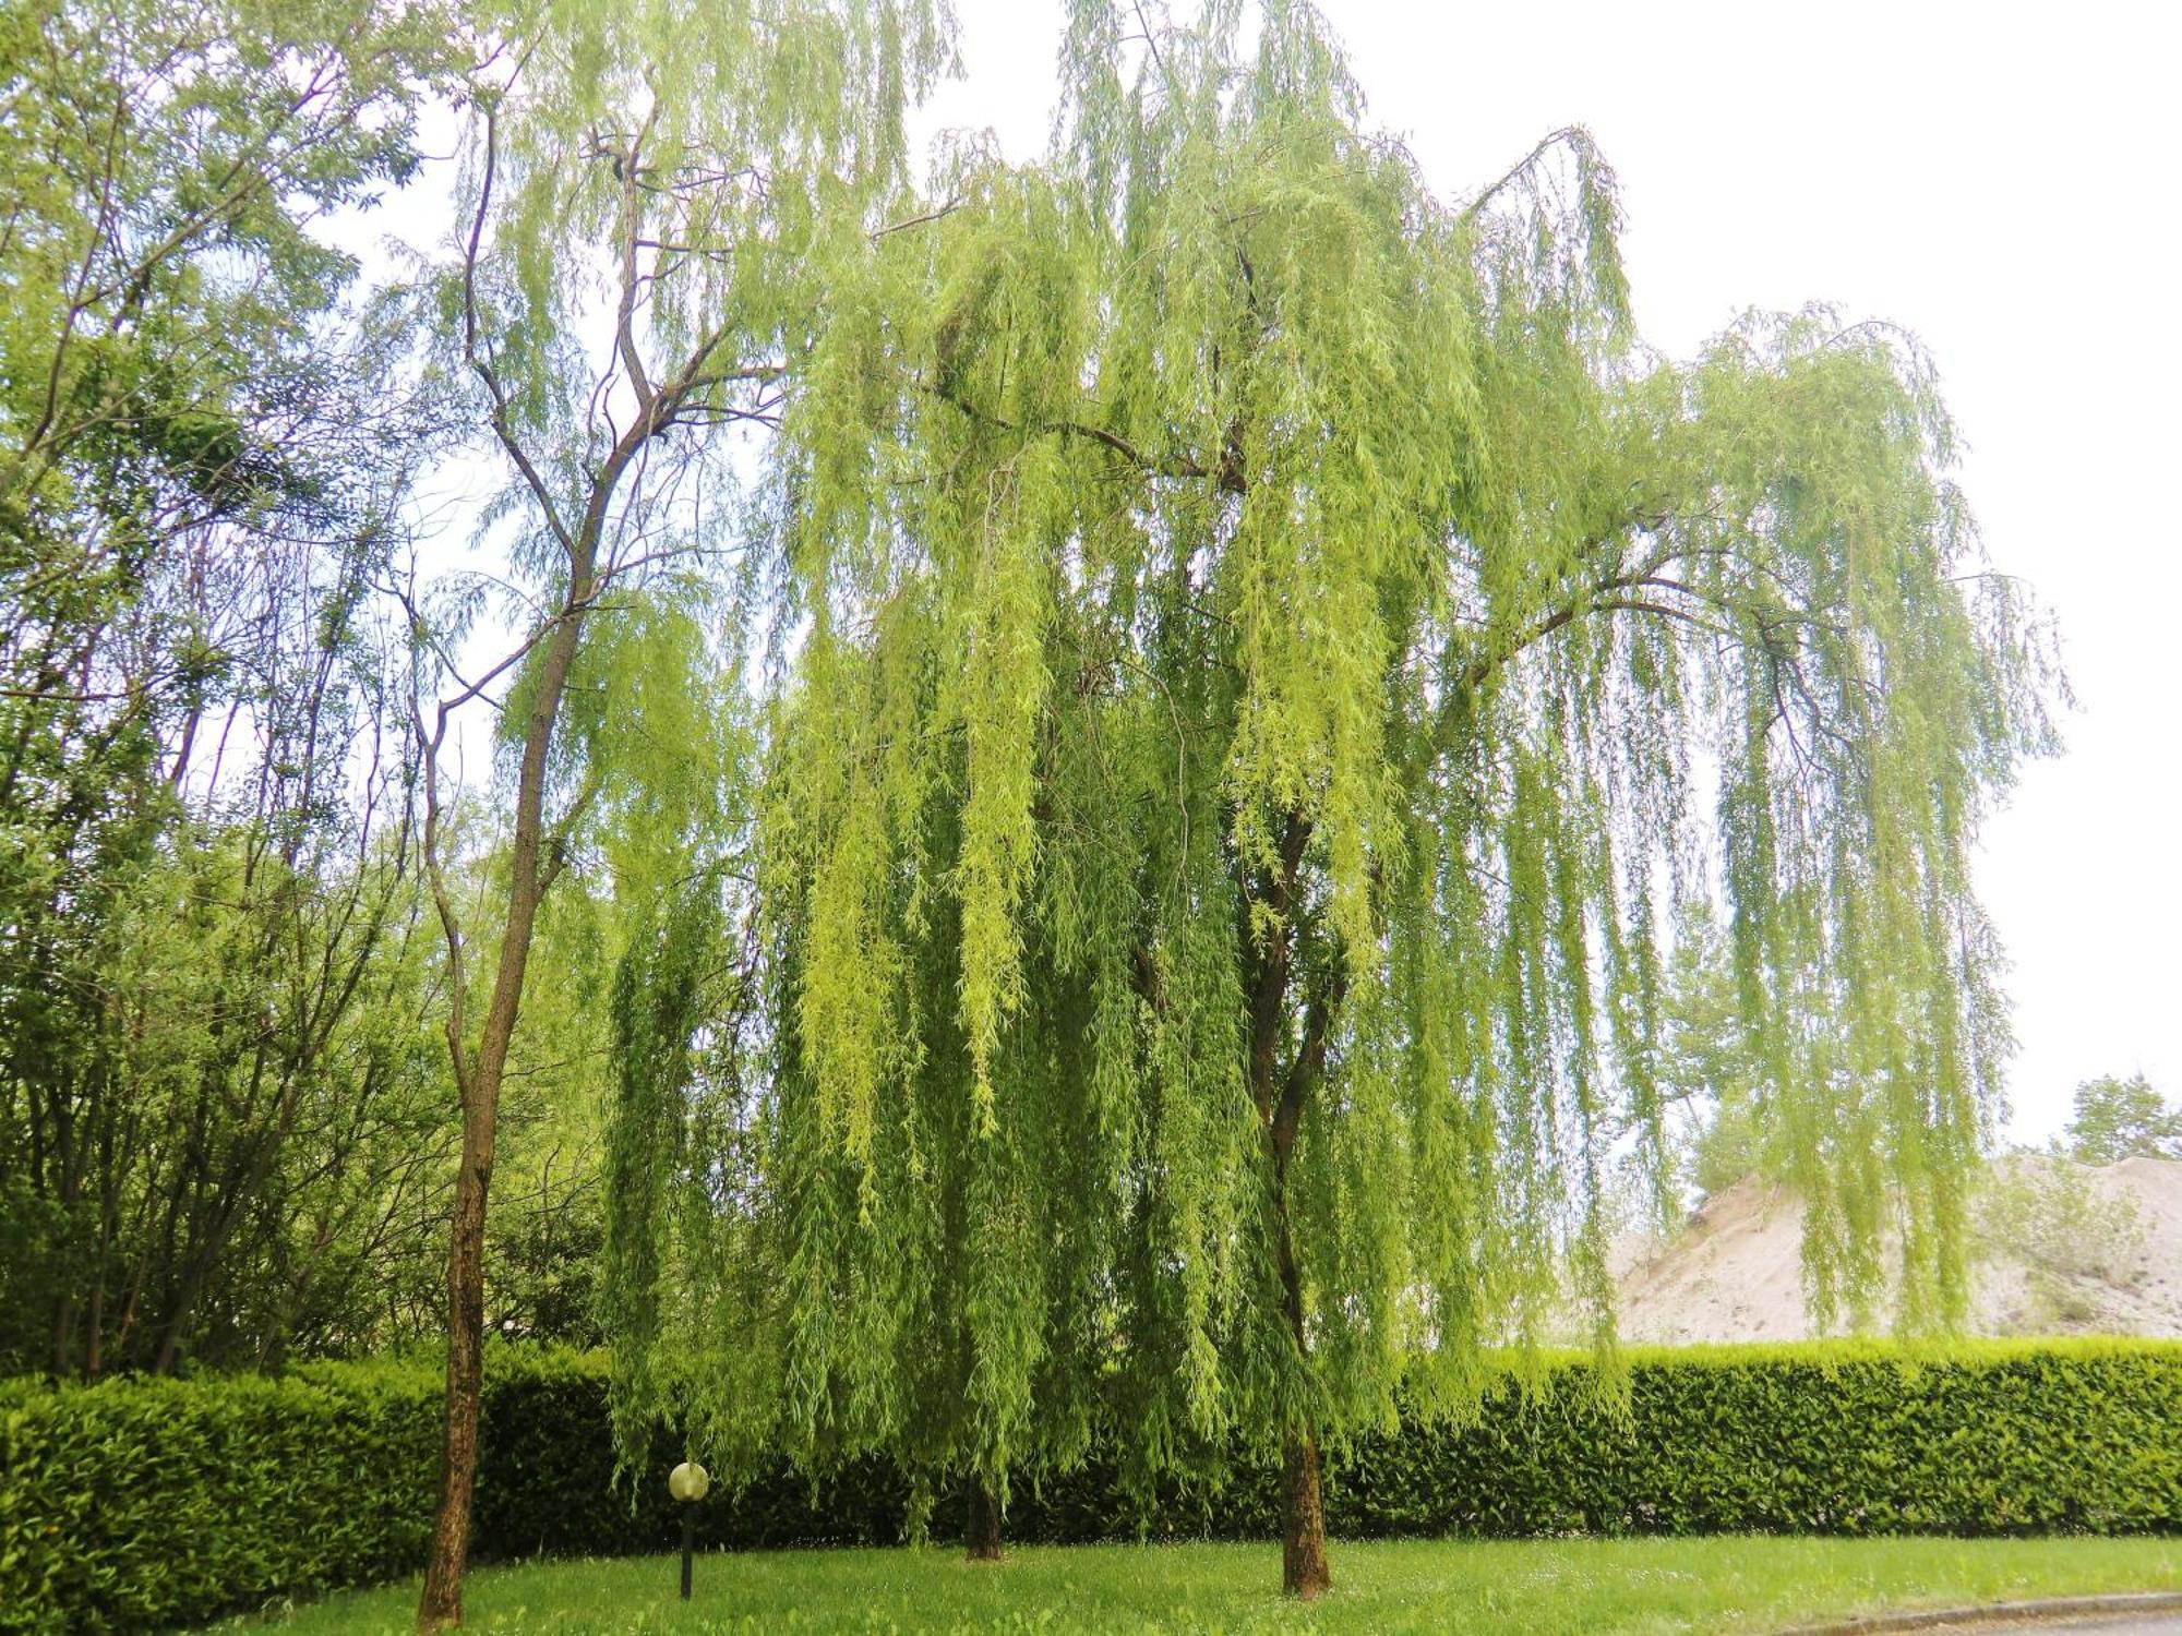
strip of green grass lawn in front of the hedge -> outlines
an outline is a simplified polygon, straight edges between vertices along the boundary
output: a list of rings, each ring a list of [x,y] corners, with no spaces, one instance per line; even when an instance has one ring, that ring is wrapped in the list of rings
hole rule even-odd
[[[550,1562],[469,1579],[469,1629],[705,1632],[1770,1632],[1879,1608],[2182,1588],[2182,1540],[1538,1540],[1335,1544],[1333,1595],[1276,1595],[1268,1544],[1023,1547]],[[412,1584],[223,1629],[408,1632]]]

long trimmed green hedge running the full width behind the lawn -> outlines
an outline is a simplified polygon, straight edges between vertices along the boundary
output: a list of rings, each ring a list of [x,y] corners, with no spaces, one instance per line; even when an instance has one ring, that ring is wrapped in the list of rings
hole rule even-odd
[[[1879,1344],[1630,1355],[1626,1409],[1588,1368],[1512,1383],[1466,1427],[1333,1451],[1329,1527],[1390,1533],[2182,1531],[2182,1344]],[[663,1483],[615,1494],[604,1366],[502,1352],[484,1405],[480,1560],[666,1549]],[[0,1387],[0,1629],[131,1632],[412,1571],[439,1376],[319,1366],[286,1379]],[[1102,1461],[1008,1512],[1012,1540],[1263,1538],[1279,1485],[1244,1466],[1150,1507]],[[775,1470],[709,1503],[709,1547],[884,1544],[906,1485],[866,1461],[823,1488]],[[932,1529],[960,1527],[958,1503]]]

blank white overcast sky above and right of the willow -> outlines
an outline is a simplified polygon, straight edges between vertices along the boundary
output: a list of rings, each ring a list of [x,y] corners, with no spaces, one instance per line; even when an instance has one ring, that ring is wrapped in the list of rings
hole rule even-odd
[[[1043,151],[1058,0],[956,0],[932,124]],[[1187,11],[1178,4],[1176,13]],[[1839,303],[1925,338],[1997,567],[2058,611],[2082,711],[1986,835],[2014,971],[2014,1134],[2077,1080],[2182,1095],[2182,334],[2169,4],[1449,7],[1322,0],[1442,192],[1560,124],[1621,177],[1645,336]]]

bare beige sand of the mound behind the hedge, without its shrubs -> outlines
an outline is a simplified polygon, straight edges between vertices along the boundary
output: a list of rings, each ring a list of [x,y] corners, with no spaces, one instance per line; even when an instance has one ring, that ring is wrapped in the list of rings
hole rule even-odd
[[[2007,1167],[2060,1165],[2021,1158]],[[2097,1272],[2042,1265],[1983,1243],[1973,1324],[1986,1335],[2182,1337],[2182,1163],[2127,1158],[2069,1167],[2101,1200],[2127,1200],[2134,1243],[2082,1246]],[[2108,1213],[2112,1215],[2112,1213]],[[1621,1337],[1628,1342],[1759,1342],[1811,1333],[1800,1274],[1802,1204],[1754,1180],[1706,1202],[1667,1241],[1617,1246]]]

